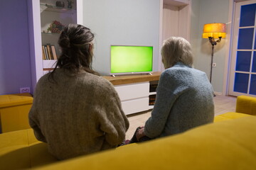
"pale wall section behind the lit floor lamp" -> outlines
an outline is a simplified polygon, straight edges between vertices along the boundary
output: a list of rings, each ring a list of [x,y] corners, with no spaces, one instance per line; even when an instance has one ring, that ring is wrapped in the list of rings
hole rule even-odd
[[[228,23],[229,0],[192,0],[191,44],[195,55],[194,67],[210,77],[211,45],[208,39],[201,38],[203,25],[206,23]],[[196,30],[198,30],[196,32]],[[225,69],[226,44],[223,39],[215,45],[212,85],[214,91],[223,91],[223,74]]]

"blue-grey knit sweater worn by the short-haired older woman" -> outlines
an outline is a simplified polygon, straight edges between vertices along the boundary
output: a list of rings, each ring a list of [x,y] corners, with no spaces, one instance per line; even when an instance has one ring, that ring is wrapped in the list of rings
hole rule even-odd
[[[174,135],[211,123],[213,117],[213,87],[208,77],[178,62],[161,74],[144,132],[151,138]]]

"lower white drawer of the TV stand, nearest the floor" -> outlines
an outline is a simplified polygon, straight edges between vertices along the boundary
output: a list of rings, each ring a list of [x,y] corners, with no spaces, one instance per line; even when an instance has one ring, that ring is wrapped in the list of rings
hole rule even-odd
[[[149,98],[122,101],[122,109],[126,115],[149,110]]]

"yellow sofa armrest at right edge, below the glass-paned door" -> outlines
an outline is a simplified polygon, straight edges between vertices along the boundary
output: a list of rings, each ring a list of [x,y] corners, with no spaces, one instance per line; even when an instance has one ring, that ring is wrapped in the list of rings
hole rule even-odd
[[[256,115],[256,98],[250,96],[238,96],[235,112]]]

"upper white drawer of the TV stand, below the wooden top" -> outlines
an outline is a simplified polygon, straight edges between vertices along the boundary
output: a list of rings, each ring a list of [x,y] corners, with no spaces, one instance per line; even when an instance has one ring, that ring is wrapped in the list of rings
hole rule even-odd
[[[114,86],[121,101],[149,96],[149,82]],[[149,102],[149,101],[147,101]]]

